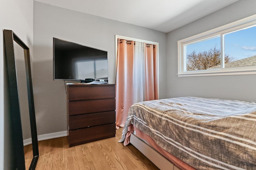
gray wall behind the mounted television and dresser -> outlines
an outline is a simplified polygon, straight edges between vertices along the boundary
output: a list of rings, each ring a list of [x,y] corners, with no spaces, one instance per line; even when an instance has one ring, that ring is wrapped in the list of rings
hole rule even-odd
[[[38,135],[67,130],[64,81],[53,80],[52,38],[108,51],[108,76],[114,83],[115,35],[159,43],[160,98],[165,98],[166,33],[34,2],[33,85]]]

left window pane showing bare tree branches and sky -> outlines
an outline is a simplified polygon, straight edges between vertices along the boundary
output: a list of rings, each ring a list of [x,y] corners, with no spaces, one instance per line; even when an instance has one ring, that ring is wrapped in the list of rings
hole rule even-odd
[[[220,37],[185,45],[186,71],[220,68]]]

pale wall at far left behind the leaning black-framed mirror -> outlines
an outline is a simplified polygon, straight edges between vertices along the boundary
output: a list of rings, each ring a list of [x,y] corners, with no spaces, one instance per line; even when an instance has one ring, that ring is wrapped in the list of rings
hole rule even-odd
[[[33,0],[3,0],[0,5],[0,29],[11,29],[33,50]],[[8,102],[6,59],[3,32],[0,33],[0,169],[16,169]],[[32,53],[31,53],[32,55]]]

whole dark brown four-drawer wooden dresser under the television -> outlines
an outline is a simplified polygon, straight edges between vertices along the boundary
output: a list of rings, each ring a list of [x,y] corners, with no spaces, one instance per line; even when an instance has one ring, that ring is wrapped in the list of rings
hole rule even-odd
[[[115,84],[67,84],[69,147],[116,135]]]

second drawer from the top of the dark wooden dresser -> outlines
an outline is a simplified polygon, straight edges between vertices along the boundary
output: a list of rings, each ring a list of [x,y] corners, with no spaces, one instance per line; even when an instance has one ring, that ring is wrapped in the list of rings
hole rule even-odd
[[[115,99],[69,101],[68,115],[97,113],[116,110]]]

